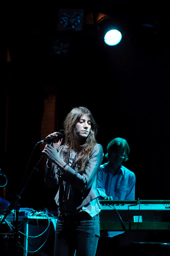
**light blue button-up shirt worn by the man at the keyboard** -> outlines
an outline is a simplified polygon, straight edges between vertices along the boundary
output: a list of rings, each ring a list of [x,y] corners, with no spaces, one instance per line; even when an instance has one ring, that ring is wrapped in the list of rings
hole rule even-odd
[[[135,200],[135,174],[121,165],[117,174],[110,167],[109,162],[102,164],[98,172],[97,190],[100,197],[112,196],[113,200]],[[122,234],[119,231],[109,231],[108,236]]]

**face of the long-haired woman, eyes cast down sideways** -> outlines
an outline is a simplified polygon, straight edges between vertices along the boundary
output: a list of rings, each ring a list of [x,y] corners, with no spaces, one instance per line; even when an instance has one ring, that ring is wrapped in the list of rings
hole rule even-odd
[[[91,120],[87,115],[82,115],[75,126],[75,132],[79,138],[87,138],[91,130]]]

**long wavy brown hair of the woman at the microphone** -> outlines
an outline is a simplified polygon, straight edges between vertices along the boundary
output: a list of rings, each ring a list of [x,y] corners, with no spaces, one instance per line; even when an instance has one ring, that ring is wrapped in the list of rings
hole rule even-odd
[[[87,115],[88,119],[91,121],[91,130],[87,138],[84,140],[84,144],[76,147],[76,141],[78,135],[75,132],[75,125],[79,122],[83,115]],[[70,113],[67,114],[64,120],[64,130],[65,130],[65,142],[63,148],[68,151],[66,160],[68,161],[70,152],[72,149],[77,151],[77,160],[80,165],[80,173],[83,172],[87,163],[90,163],[90,152],[95,146],[96,134],[97,134],[97,124],[90,112],[86,107],[74,107]]]

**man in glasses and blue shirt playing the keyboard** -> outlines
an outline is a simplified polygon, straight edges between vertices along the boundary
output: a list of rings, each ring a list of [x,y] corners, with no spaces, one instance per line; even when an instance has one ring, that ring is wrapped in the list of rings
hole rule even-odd
[[[102,164],[98,172],[99,200],[135,200],[135,174],[123,166],[123,163],[128,160],[129,152],[129,145],[124,138],[115,138],[107,145],[105,156],[109,161]],[[112,246],[113,242],[119,246],[124,239],[123,233],[124,231],[101,232],[100,240],[104,239],[102,237],[114,238],[105,239],[105,246],[106,243]]]

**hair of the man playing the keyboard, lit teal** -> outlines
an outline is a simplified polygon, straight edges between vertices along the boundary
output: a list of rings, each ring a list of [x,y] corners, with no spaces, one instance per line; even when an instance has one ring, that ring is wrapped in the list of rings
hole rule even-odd
[[[110,153],[114,151],[116,146],[122,146],[125,149],[124,162],[127,161],[128,154],[130,152],[130,148],[129,148],[127,141],[124,138],[120,138],[120,137],[114,138],[113,140],[111,140],[109,142],[109,144],[107,145],[107,153],[106,153],[105,157],[110,159]]]

